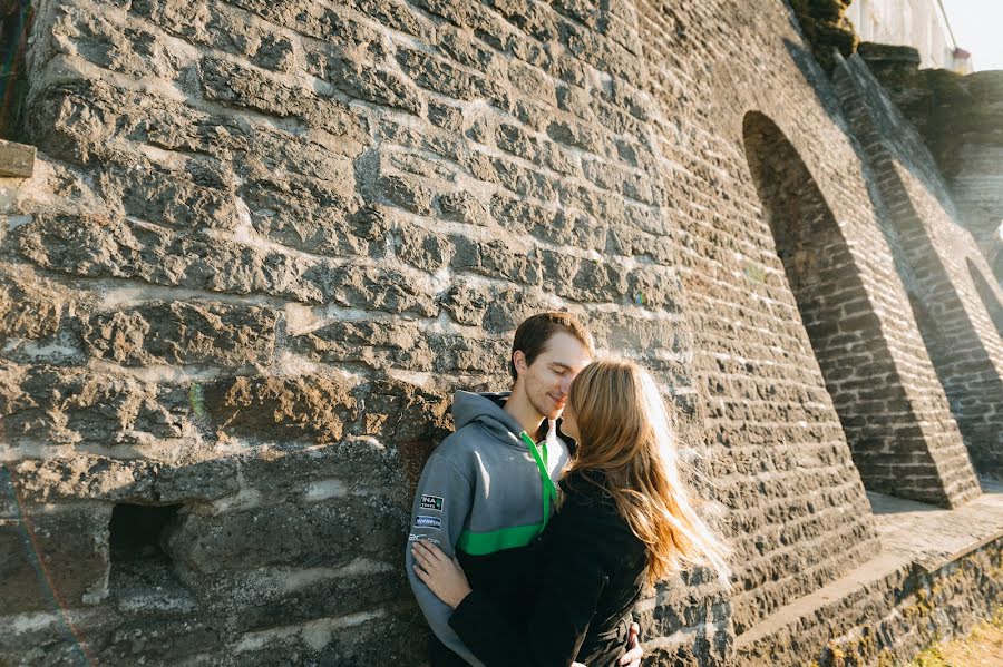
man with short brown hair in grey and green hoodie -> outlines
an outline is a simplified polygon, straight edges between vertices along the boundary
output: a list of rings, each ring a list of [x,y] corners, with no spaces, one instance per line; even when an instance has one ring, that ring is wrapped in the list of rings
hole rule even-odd
[[[418,482],[408,541],[427,539],[455,553],[470,585],[512,616],[529,604],[515,595],[524,590],[527,547],[549,520],[555,483],[574,453],[557,418],[572,380],[594,354],[592,335],[569,313],[523,322],[509,360],[512,392],[457,392],[456,432],[432,452]],[[432,665],[479,666],[449,627],[451,609],[415,573],[410,543],[406,555],[411,589],[437,638]],[[621,664],[639,664],[642,653],[634,648]]]

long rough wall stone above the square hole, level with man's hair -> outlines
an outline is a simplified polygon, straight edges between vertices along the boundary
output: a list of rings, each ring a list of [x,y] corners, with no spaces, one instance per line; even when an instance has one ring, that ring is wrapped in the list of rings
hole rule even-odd
[[[96,313],[84,324],[91,354],[124,365],[265,364],[275,352],[277,315],[222,303],[155,302]]]

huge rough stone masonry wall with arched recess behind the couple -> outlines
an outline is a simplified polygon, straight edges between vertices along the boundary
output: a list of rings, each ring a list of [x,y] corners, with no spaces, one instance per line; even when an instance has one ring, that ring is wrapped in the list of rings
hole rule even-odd
[[[799,19],[843,3],[796,4],[32,3],[0,665],[426,664],[417,474],[545,308],[655,373],[733,547],[731,590],[641,605],[649,664],[892,664],[990,615],[1003,291],[968,182],[851,48],[819,66]],[[889,497],[982,522],[898,561]]]

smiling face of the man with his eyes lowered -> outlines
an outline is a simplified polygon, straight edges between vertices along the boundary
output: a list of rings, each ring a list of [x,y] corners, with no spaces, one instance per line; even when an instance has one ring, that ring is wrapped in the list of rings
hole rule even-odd
[[[519,371],[529,404],[547,419],[557,419],[567,402],[572,380],[592,361],[578,339],[558,332],[551,336],[533,364]]]

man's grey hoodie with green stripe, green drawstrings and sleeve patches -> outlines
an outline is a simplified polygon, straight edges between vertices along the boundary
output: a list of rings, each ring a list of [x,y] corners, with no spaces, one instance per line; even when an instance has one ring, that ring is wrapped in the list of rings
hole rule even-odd
[[[449,627],[451,609],[415,575],[410,542],[427,539],[450,557],[489,557],[525,547],[543,530],[553,503],[545,506],[539,468],[519,423],[501,409],[504,394],[457,392],[452,404],[456,432],[432,452],[411,510],[406,550],[408,578],[418,605],[442,644],[471,665],[480,665]],[[544,447],[545,445],[545,447]],[[556,482],[568,448],[548,424],[545,442],[548,475]],[[545,516],[544,511],[547,514]],[[467,571],[473,587],[479,571]],[[488,570],[489,571],[489,570]]]

